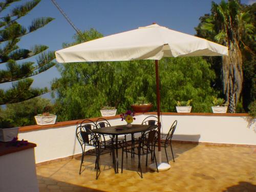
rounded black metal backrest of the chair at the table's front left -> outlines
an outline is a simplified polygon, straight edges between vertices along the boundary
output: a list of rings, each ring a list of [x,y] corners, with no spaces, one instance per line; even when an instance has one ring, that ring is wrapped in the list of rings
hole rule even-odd
[[[82,148],[84,145],[99,145],[99,137],[97,134],[92,132],[91,124],[78,126],[76,128],[76,138],[79,141]]]

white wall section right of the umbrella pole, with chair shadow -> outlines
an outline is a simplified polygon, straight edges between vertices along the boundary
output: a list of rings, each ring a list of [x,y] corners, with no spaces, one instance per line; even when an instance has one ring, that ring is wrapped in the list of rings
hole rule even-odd
[[[163,132],[178,121],[173,140],[256,145],[256,123],[248,117],[163,115]]]

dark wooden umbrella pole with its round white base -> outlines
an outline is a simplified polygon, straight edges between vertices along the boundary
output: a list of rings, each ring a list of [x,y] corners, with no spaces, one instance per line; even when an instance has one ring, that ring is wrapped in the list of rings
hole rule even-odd
[[[155,60],[156,67],[156,89],[157,89],[157,119],[158,119],[158,161],[157,167],[159,171],[168,170],[170,165],[162,163],[161,155],[161,122],[160,122],[160,88],[159,88],[159,73],[158,73],[158,60]],[[152,170],[157,170],[156,164],[153,163],[149,166]]]

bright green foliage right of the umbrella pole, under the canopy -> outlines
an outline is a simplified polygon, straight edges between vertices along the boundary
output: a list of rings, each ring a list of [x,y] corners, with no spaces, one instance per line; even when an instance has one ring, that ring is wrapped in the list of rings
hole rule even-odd
[[[160,93],[162,111],[175,112],[177,100],[193,99],[194,112],[210,112],[211,97],[216,94],[211,87],[214,78],[214,71],[210,70],[209,63],[202,57],[161,59]],[[152,100],[156,100],[156,98]]]

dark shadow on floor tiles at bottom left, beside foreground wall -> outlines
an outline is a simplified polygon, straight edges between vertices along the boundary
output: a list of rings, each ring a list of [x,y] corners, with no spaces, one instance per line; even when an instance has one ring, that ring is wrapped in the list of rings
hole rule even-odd
[[[39,192],[47,192],[47,191],[104,192],[103,190],[98,190],[98,189],[93,189],[89,187],[74,185],[67,182],[57,181],[49,177],[37,176],[37,182],[38,182]]]

